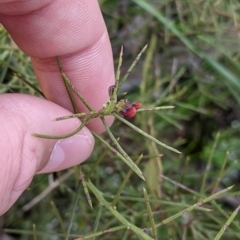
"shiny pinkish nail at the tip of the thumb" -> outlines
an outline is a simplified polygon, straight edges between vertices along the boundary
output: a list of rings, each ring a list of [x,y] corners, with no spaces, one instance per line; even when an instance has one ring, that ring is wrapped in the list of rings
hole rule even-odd
[[[91,155],[93,146],[94,138],[90,132],[58,140],[48,163],[39,173],[60,171],[80,164]]]

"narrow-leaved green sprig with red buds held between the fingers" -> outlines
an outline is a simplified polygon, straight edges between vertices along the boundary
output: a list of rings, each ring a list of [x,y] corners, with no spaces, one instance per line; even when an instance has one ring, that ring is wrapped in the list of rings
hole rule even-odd
[[[122,159],[140,178],[145,180],[141,170],[132,161],[132,159],[127,155],[127,153],[122,149],[122,147],[120,146],[118,141],[115,139],[115,137],[111,133],[111,130],[107,126],[104,118],[105,118],[105,116],[113,115],[117,119],[122,121],[123,123],[125,123],[128,126],[130,126],[131,128],[133,128],[135,131],[139,132],[143,136],[145,136],[145,137],[149,138],[150,140],[154,141],[158,145],[160,145],[162,147],[165,147],[165,148],[167,148],[167,149],[169,149],[173,152],[180,153],[178,150],[160,142],[156,138],[154,138],[151,135],[145,133],[144,131],[142,131],[138,127],[134,126],[133,124],[131,124],[127,120],[125,120],[125,119],[128,119],[128,118],[134,117],[137,114],[138,111],[154,111],[154,110],[161,110],[161,109],[170,109],[170,108],[173,108],[173,106],[163,106],[163,107],[155,107],[155,108],[144,109],[144,108],[141,108],[142,104],[140,102],[131,103],[127,99],[121,99],[121,100],[117,101],[117,93],[118,93],[120,87],[125,82],[129,73],[134,68],[134,66],[136,65],[136,63],[138,62],[138,60],[140,59],[141,55],[146,50],[146,48],[147,48],[147,45],[140,51],[140,53],[138,54],[138,56],[136,57],[136,59],[134,60],[132,65],[129,67],[128,71],[123,76],[123,78],[121,80],[119,80],[120,79],[120,68],[121,68],[122,56],[123,56],[123,48],[121,48],[120,56],[119,56],[119,64],[118,64],[117,73],[116,73],[115,85],[109,87],[109,90],[108,90],[109,101],[106,104],[103,105],[102,109],[100,109],[98,111],[92,109],[91,106],[86,102],[84,97],[81,94],[79,94],[77,89],[73,86],[71,81],[68,79],[66,74],[63,72],[60,60],[57,57],[57,63],[58,63],[58,67],[59,67],[59,70],[60,70],[60,74],[62,76],[62,79],[63,79],[64,84],[66,86],[66,89],[68,91],[69,97],[70,97],[71,102],[73,104],[73,108],[75,109],[75,113],[72,114],[72,115],[68,115],[68,116],[57,117],[53,120],[54,121],[61,121],[61,120],[66,120],[66,119],[70,119],[70,118],[79,118],[82,121],[82,123],[76,130],[74,130],[73,132],[70,132],[68,134],[64,134],[64,135],[53,136],[53,135],[45,135],[45,134],[39,134],[39,133],[33,133],[32,135],[35,136],[35,137],[46,138],[46,139],[67,138],[67,137],[71,137],[74,134],[78,133],[91,119],[100,118],[103,121],[103,124],[104,124],[104,126],[107,130],[107,133],[108,133],[109,137],[113,141],[113,146],[108,144],[99,135],[93,133],[95,135],[95,137],[97,137],[102,143],[104,143],[107,146],[107,148],[109,148],[110,151],[114,152],[120,159]],[[82,103],[87,107],[89,112],[81,112],[81,113],[77,112],[76,104],[75,104],[74,99],[72,97],[72,92],[74,92],[74,94],[76,94],[78,96],[80,101],[82,101]]]

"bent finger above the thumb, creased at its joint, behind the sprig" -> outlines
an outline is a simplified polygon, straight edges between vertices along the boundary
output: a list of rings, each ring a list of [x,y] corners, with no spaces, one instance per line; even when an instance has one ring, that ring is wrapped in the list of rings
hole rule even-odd
[[[108,88],[114,84],[112,51],[97,1],[50,1],[38,11],[8,12],[0,21],[32,57],[49,100],[72,111],[56,65],[55,57],[60,56],[64,72],[93,109],[101,109],[108,101]],[[80,101],[78,108],[86,111]],[[92,122],[90,128],[96,132],[104,129],[100,121]]]

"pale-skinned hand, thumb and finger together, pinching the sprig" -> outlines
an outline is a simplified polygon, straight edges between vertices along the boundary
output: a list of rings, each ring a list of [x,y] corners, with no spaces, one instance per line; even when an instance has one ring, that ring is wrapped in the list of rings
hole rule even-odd
[[[90,130],[104,131],[100,120],[65,140],[32,133],[61,135],[76,129],[71,103],[57,69],[64,72],[93,109],[101,109],[115,82],[108,33],[96,0],[0,0],[0,23],[31,57],[47,100],[23,94],[0,95],[0,215],[29,186],[37,173],[51,173],[85,161],[94,147]],[[78,101],[80,111],[86,108]],[[107,118],[108,124],[113,119]]]

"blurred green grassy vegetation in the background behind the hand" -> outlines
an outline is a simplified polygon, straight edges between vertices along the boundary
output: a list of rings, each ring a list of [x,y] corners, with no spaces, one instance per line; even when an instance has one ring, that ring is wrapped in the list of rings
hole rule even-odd
[[[131,122],[182,154],[157,146],[116,120],[113,134],[133,159],[143,154],[139,168],[146,177],[146,182],[136,174],[128,179],[116,204],[120,215],[104,201],[112,201],[129,168],[96,141],[81,168],[84,174],[93,170],[90,180],[104,200],[90,188],[90,208],[79,185],[79,167],[36,176],[0,218],[2,228],[21,240],[240,239],[236,215],[240,204],[239,1],[100,0],[99,4],[116,66],[120,46],[124,47],[122,72],[148,43],[122,93],[144,107],[175,106],[140,112]],[[35,94],[13,76],[20,73],[36,84],[29,57],[12,44],[4,29],[0,41],[1,93],[11,89]],[[106,134],[104,138],[109,140]],[[219,191],[225,192],[216,197]],[[121,217],[143,234],[127,227]]]

